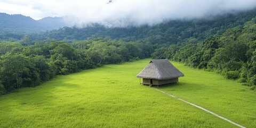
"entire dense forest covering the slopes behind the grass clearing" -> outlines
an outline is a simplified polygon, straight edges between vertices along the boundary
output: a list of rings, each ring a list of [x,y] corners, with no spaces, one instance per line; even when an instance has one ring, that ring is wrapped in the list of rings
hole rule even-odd
[[[0,33],[0,94],[34,87],[55,75],[143,58],[169,59],[216,71],[256,87],[256,10],[155,26],[63,27]]]

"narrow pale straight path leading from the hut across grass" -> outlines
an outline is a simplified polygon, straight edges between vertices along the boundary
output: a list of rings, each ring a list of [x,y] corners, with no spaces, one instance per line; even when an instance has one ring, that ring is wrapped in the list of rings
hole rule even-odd
[[[199,108],[199,109],[202,109],[202,110],[206,111],[207,113],[210,113],[210,114],[212,114],[212,115],[214,115],[214,116],[217,116],[217,117],[219,117],[219,118],[222,118],[222,119],[224,119],[225,121],[227,121],[227,122],[229,122],[229,123],[231,123],[231,124],[234,124],[234,125],[236,125],[236,126],[238,126],[238,127],[246,128],[245,126],[242,126],[242,125],[237,124],[237,123],[235,123],[235,122],[233,122],[233,121],[230,121],[230,119],[227,119],[227,118],[222,117],[222,116],[220,116],[220,115],[218,115],[218,114],[215,114],[215,113],[213,113],[213,112],[210,111],[210,110],[207,110],[207,109],[205,109],[205,108],[203,108],[203,107],[201,107],[201,106],[197,106],[197,105],[195,105],[194,103],[190,103],[190,102],[188,102],[188,101],[186,101],[186,100],[183,100],[183,99],[180,99],[180,98],[178,98],[178,97],[175,97],[174,95],[171,95],[171,94],[169,94],[169,93],[167,93],[167,92],[158,90],[158,89],[156,89],[155,87],[152,87],[152,88],[155,89],[155,90],[157,90],[157,91],[159,91],[159,92],[162,92],[162,93],[164,93],[164,94],[167,94],[167,95],[169,95],[170,97],[173,97],[173,98],[175,98],[175,99],[178,99],[178,100],[181,100],[181,101],[183,101],[183,102],[186,102],[186,103],[188,103],[189,105],[192,105],[192,106],[195,106],[195,107],[197,107],[197,108]]]

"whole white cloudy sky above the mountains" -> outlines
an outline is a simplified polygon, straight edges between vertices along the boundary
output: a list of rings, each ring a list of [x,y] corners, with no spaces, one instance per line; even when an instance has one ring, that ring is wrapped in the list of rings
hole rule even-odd
[[[35,20],[65,17],[76,25],[96,22],[108,27],[155,25],[254,7],[256,0],[0,0],[0,12],[7,14],[22,14]]]

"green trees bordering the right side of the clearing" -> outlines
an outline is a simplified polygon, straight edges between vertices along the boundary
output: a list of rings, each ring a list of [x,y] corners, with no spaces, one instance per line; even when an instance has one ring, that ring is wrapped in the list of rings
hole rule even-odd
[[[202,42],[188,38],[180,46],[161,47],[152,56],[184,62],[194,68],[215,70],[228,79],[248,83],[255,90],[256,19],[230,28],[221,36],[210,36]]]

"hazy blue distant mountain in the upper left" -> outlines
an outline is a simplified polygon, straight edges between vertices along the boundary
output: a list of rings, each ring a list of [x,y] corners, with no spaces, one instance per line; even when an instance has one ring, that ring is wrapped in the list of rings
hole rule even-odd
[[[63,18],[43,18],[34,20],[21,14],[0,13],[0,31],[28,32],[53,30],[67,26]]]

